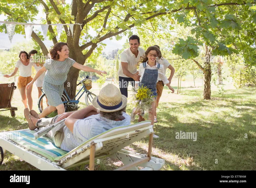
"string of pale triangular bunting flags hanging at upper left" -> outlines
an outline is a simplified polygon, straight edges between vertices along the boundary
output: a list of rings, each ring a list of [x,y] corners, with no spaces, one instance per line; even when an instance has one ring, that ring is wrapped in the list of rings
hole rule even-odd
[[[58,38],[60,38],[63,25],[68,25],[69,26],[69,29],[70,29],[72,37],[73,37],[73,27],[75,25],[75,24],[29,24],[29,23],[12,22],[12,21],[0,21],[0,23],[6,25],[6,32],[7,32],[7,35],[9,37],[9,40],[10,40],[11,43],[12,43],[12,40],[13,40],[13,35],[14,35],[16,25],[24,25],[25,26],[25,35],[26,35],[27,41],[29,41],[29,39],[31,37],[34,25],[40,25],[41,26],[45,39],[47,38],[47,31],[48,31],[49,25],[56,25],[57,26],[57,34],[58,34],[57,37]],[[82,26],[81,26],[82,24],[79,24],[79,23],[76,23],[76,24],[80,25],[80,28],[82,30]]]

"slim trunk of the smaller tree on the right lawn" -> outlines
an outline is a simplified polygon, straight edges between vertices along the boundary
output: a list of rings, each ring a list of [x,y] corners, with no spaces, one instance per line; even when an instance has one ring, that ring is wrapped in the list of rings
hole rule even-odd
[[[206,54],[204,62],[204,99],[211,99],[211,62],[210,62],[210,49],[206,45]]]

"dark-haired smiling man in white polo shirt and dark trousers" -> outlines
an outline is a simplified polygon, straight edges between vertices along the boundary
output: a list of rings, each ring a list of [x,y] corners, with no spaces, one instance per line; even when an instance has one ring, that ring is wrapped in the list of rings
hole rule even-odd
[[[145,50],[140,48],[140,38],[132,35],[129,38],[130,48],[125,49],[121,54],[121,66],[118,70],[119,87],[122,95],[128,97],[128,84],[135,86],[135,81],[140,81],[137,71],[137,64]]]

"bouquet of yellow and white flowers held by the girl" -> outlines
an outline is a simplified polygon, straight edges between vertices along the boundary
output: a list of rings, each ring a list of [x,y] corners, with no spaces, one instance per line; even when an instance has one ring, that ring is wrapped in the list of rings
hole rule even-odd
[[[154,102],[155,97],[153,92],[144,85],[138,87],[138,89],[132,88],[132,91],[132,104],[136,107],[138,112],[151,110],[151,104]]]

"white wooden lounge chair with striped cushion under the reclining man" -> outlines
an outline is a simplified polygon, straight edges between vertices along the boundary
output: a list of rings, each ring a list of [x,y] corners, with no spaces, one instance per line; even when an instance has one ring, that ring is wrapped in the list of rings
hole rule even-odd
[[[61,150],[48,137],[35,139],[34,130],[24,129],[0,133],[0,164],[6,150],[40,170],[66,170],[89,163],[94,170],[94,160],[110,157],[123,162],[116,170],[160,170],[165,160],[151,157],[153,126],[142,121],[129,126],[116,127],[97,135],[70,152]],[[36,134],[35,134],[36,135]],[[149,135],[148,154],[123,149]],[[97,160],[98,161],[98,160]],[[138,167],[137,167],[138,166]]]

